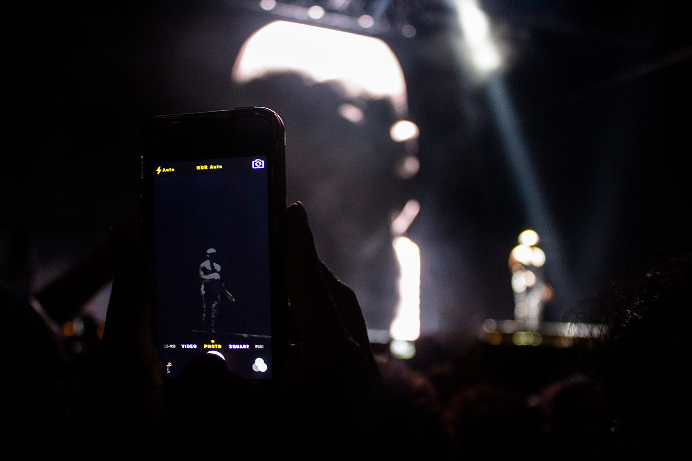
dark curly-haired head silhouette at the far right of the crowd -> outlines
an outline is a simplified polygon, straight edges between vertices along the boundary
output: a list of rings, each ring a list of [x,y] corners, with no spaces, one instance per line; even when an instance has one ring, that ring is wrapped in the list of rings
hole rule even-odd
[[[674,451],[690,427],[692,255],[612,283],[599,307],[594,371],[612,406],[610,449]]]

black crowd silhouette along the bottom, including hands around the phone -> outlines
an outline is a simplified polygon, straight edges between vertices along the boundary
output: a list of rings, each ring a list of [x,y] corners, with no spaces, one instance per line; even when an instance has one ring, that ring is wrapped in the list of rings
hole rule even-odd
[[[113,230],[113,292],[89,365],[70,359],[37,302],[3,285],[10,341],[22,344],[6,352],[3,440],[29,450],[80,440],[111,454],[308,458],[612,459],[684,449],[690,255],[609,284],[580,313],[603,325],[599,336],[575,347],[572,368],[522,388],[512,386],[516,374],[493,378],[502,361],[481,343],[464,357],[432,340],[419,341],[416,360],[373,353],[356,295],[319,260],[302,205],[288,217],[286,282],[300,345],[284,365],[286,382],[255,385],[201,355],[176,386],[164,383],[150,324],[152,266],[135,233]]]

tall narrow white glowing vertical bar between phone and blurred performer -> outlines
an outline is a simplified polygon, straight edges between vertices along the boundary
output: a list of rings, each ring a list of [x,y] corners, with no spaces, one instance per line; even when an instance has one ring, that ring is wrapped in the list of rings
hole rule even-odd
[[[414,341],[421,334],[421,253],[418,245],[406,237],[392,241],[399,260],[399,305],[390,326],[393,339]]]

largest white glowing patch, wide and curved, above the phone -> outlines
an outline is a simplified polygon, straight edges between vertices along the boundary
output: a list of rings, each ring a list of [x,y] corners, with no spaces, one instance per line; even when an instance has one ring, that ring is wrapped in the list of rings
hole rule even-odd
[[[231,75],[245,83],[282,72],[297,72],[313,82],[338,82],[347,98],[388,98],[398,117],[408,111],[401,65],[381,39],[274,21],[246,40]]]

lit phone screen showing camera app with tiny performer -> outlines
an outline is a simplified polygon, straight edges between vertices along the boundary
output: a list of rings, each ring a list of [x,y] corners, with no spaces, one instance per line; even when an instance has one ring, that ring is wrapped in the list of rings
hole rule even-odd
[[[265,156],[154,162],[156,341],[166,377],[219,354],[272,377]]]

